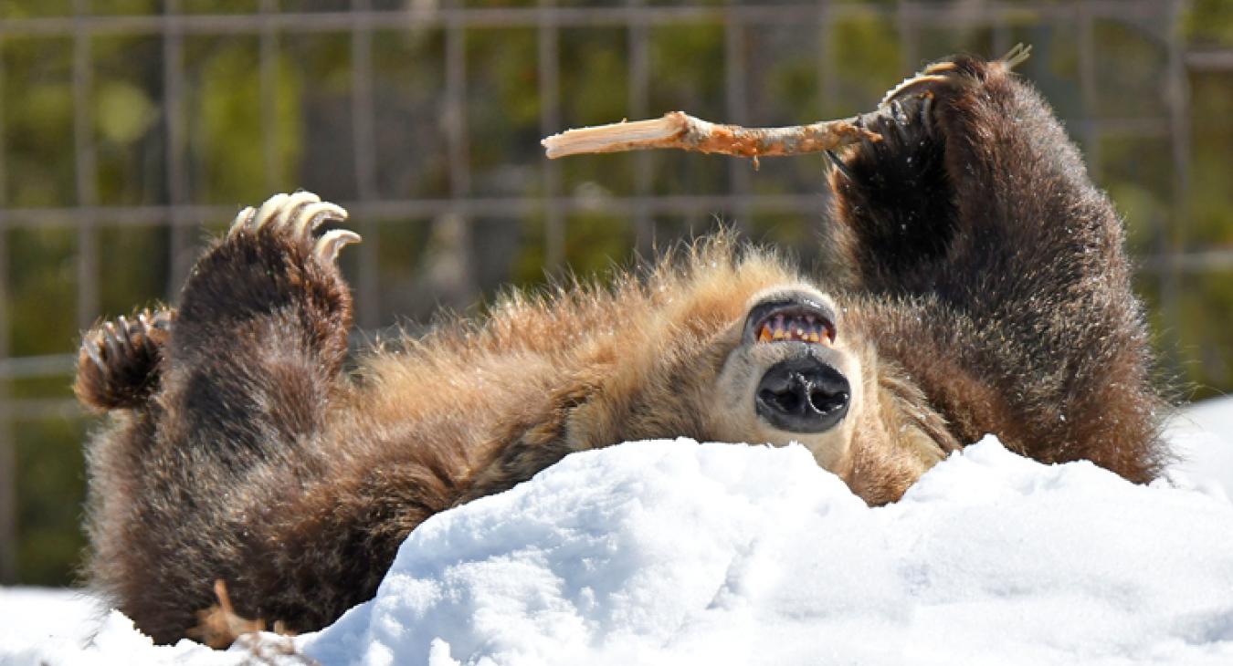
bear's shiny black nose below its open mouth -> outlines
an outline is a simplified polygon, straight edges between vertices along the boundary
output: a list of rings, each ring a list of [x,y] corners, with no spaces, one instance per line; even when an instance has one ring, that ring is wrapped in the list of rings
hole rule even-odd
[[[758,416],[788,432],[825,432],[847,415],[848,380],[814,357],[780,361],[762,375]]]

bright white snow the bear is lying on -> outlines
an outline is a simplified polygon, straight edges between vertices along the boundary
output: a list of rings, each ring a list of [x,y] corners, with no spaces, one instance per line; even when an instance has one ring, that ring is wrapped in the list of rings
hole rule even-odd
[[[986,438],[880,508],[799,447],[576,454],[420,526],[374,601],[293,646],[434,666],[1233,664],[1233,400],[1170,437],[1189,459],[1150,486]],[[0,590],[0,618],[5,665],[247,657],[155,648],[64,591]]]

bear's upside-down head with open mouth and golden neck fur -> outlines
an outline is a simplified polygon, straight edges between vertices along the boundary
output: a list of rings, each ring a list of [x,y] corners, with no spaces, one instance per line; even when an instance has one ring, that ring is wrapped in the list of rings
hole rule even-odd
[[[879,353],[898,330],[885,313],[842,276],[827,278],[831,291],[773,252],[729,241],[582,303],[575,320],[597,330],[552,339],[582,359],[573,388],[551,403],[566,422],[536,437],[563,436],[570,451],[671,437],[795,442],[869,504],[898,499],[958,448],[919,387]]]

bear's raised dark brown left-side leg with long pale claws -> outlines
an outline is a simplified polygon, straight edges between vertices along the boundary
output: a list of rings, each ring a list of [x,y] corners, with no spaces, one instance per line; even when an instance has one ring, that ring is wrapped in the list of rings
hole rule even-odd
[[[334,260],[360,236],[316,230],[345,218],[309,192],[276,195],[197,262],[169,348],[169,439],[261,458],[321,426],[351,321]]]

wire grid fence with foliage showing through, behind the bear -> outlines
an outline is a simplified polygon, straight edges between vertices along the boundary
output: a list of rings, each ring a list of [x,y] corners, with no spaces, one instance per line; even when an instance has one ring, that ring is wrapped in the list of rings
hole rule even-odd
[[[1203,30],[1189,12],[1164,0],[0,2],[0,582],[60,580],[65,565],[43,553],[80,544],[63,534],[80,513],[89,423],[67,389],[76,332],[174,300],[202,229],[242,204],[309,188],[351,211],[365,243],[343,266],[367,331],[545,271],[602,272],[718,220],[810,261],[820,159],[555,162],[538,139],[673,108],[746,124],[838,117],[956,50],[1034,47],[1022,71],[1126,212],[1141,289],[1181,363],[1176,327],[1203,309],[1186,302],[1191,283],[1233,267],[1219,186],[1216,230],[1185,222],[1192,181],[1208,179],[1192,138],[1228,140],[1218,96],[1233,71],[1218,39],[1187,38]],[[1215,89],[1207,116],[1196,85]],[[1215,145],[1212,159],[1227,144]],[[1212,340],[1219,356],[1228,336]]]

